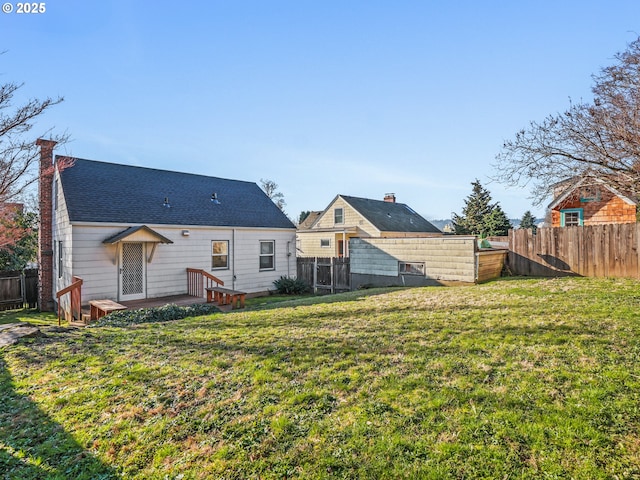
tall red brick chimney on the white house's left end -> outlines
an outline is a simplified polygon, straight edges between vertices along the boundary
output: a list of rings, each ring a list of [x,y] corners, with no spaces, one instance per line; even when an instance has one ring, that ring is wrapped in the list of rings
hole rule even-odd
[[[40,176],[40,229],[38,236],[39,289],[38,308],[43,312],[53,311],[53,148],[57,142],[39,138]]]

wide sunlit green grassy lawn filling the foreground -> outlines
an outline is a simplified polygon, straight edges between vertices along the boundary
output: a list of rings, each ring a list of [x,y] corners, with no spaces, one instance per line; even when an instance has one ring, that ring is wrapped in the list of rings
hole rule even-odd
[[[640,477],[640,284],[368,290],[0,350],[5,478]]]

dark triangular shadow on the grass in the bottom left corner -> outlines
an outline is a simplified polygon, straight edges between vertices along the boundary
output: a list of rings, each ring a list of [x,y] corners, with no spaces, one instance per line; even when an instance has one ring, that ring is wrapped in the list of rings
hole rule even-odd
[[[116,471],[87,452],[26,395],[0,354],[0,477],[110,479]]]

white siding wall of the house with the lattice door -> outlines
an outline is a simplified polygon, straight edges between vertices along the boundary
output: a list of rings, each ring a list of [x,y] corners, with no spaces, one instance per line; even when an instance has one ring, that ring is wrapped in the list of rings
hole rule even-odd
[[[73,227],[73,274],[84,279],[83,303],[94,299],[118,300],[118,252],[120,246],[102,243],[130,225],[85,224]],[[158,244],[146,264],[147,297],[187,293],[186,269],[199,268],[224,281],[226,287],[248,293],[272,290],[282,275],[295,276],[295,231],[147,225],[173,241]],[[189,235],[183,235],[188,230]],[[229,268],[211,269],[211,242],[229,242]],[[275,240],[275,270],[259,271],[260,240]],[[146,244],[146,256],[152,244]],[[288,249],[288,250],[287,250]],[[287,253],[291,252],[291,256]],[[234,280],[235,274],[235,280]]]

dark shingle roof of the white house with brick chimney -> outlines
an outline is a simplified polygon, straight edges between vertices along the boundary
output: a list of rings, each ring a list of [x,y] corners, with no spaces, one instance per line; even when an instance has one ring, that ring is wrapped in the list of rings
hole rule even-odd
[[[72,222],[295,228],[253,182],[84,159],[60,178]]]

